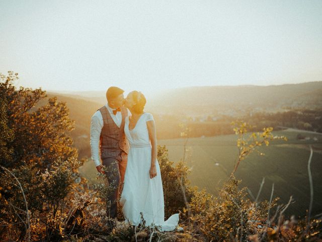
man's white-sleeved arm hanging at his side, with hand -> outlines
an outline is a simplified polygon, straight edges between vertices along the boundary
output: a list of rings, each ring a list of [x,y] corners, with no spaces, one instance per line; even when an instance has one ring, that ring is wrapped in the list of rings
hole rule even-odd
[[[101,120],[102,119],[102,120]],[[99,157],[99,142],[103,128],[103,118],[100,111],[94,113],[91,118],[91,154],[92,160],[99,172],[101,172],[101,161]]]

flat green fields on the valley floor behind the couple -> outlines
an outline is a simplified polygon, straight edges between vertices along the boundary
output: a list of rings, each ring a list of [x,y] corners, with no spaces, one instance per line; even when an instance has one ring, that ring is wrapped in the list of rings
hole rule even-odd
[[[265,177],[260,200],[269,200],[274,183],[274,196],[280,197],[280,203],[286,204],[289,197],[293,196],[294,203],[289,206],[286,214],[304,216],[310,200],[307,161],[310,154],[308,145],[311,144],[314,215],[322,212],[322,135],[300,132],[311,138],[302,141],[296,139],[298,133],[296,130],[273,132],[274,135],[286,136],[288,141],[274,141],[268,147],[261,147],[260,151],[265,156],[252,153],[240,163],[235,175],[242,180],[241,186],[247,186],[255,197],[262,178]],[[317,141],[312,140],[313,137]],[[186,155],[187,164],[191,167],[191,185],[217,194],[218,188],[227,180],[234,166],[238,154],[235,143],[235,135],[189,139]],[[170,160],[177,162],[183,157],[182,139],[159,140],[158,144],[167,146]],[[80,171],[91,183],[95,182],[96,169],[92,161],[87,162]]]

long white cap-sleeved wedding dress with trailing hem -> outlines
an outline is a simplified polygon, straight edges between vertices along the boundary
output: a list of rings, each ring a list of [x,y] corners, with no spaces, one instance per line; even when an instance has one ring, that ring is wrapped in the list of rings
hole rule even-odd
[[[155,163],[156,176],[150,178],[149,175],[151,143],[146,125],[149,120],[153,120],[152,114],[143,113],[134,129],[129,130],[129,117],[125,118],[124,132],[130,150],[120,204],[123,206],[123,215],[130,224],[138,225],[142,212],[145,226],[158,225],[162,231],[172,231],[177,228],[179,213],[165,221],[164,194],[158,161]]]

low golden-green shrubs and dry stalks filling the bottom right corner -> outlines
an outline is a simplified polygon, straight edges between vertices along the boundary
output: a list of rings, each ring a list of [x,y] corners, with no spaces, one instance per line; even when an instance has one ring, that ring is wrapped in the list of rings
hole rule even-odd
[[[205,190],[191,200],[194,228],[206,241],[316,241],[322,231],[322,220],[294,217],[285,219],[278,198],[257,203],[247,199],[246,188],[238,189],[240,180],[230,177],[218,197]],[[277,208],[276,208],[277,207]],[[276,208],[272,213],[272,209]],[[271,217],[268,215],[271,213]],[[274,216],[272,216],[272,214]],[[306,227],[309,230],[306,232]]]

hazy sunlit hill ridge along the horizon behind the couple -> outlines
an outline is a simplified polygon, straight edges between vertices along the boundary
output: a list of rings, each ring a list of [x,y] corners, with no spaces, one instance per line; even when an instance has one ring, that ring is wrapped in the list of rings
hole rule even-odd
[[[104,91],[59,94],[106,103]],[[164,91],[148,99],[146,109],[163,114],[240,115],[246,111],[280,111],[322,107],[322,81],[272,86],[206,86]]]

